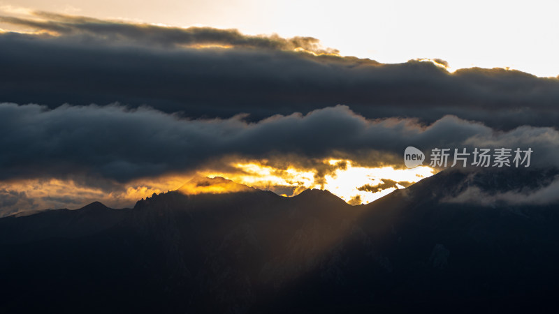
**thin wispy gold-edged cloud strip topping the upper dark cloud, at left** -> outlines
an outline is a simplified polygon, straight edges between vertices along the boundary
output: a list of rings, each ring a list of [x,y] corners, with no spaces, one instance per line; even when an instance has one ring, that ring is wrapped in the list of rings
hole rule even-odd
[[[282,38],[277,35],[248,36],[236,29],[212,27],[166,27],[92,17],[34,12],[32,17],[0,16],[0,22],[29,27],[57,36],[85,36],[89,40],[108,40],[116,44],[157,45],[159,47],[225,47],[260,48],[270,50],[305,50],[315,54],[337,54],[337,50],[321,47],[312,37]]]

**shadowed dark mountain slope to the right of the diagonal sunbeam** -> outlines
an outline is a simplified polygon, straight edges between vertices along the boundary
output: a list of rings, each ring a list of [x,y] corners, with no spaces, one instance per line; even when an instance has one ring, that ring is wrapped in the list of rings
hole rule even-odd
[[[546,185],[555,174],[443,172],[395,191],[363,206],[349,232],[323,256],[324,264],[262,308],[277,313],[293,307],[306,313],[318,308],[326,313],[553,311],[559,291],[557,204],[442,200],[472,186],[491,194]]]

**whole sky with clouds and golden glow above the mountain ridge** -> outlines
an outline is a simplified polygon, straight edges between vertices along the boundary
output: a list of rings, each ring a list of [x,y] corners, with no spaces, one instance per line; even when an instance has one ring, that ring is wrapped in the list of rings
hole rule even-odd
[[[559,167],[553,6],[3,1],[0,216],[201,177],[366,204],[442,170],[409,146]]]

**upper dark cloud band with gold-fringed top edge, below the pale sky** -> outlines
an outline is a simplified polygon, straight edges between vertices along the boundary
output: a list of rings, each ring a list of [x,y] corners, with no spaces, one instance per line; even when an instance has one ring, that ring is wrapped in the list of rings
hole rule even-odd
[[[245,36],[235,30],[180,29],[39,13],[3,22],[61,36],[0,35],[0,101],[131,107],[149,105],[182,117],[250,121],[348,105],[367,118],[447,114],[510,130],[557,126],[559,80],[503,69],[449,73],[430,62],[381,64],[354,57],[314,56],[314,38]],[[184,45],[232,45],[193,49]],[[437,63],[444,64],[442,60]]]

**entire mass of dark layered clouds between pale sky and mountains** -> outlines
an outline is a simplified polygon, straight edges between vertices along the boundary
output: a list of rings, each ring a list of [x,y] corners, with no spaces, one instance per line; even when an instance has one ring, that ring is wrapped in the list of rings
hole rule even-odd
[[[124,184],[233,171],[224,160],[235,158],[312,169],[318,183],[338,167],[324,158],[403,167],[407,146],[530,147],[532,167],[559,166],[557,78],[382,64],[316,38],[234,29],[53,13],[0,22],[31,30],[0,33],[0,207],[10,212],[42,206],[33,197],[81,204],[58,179],[83,200],[136,199],[159,190]],[[362,188],[396,184],[382,182]]]

